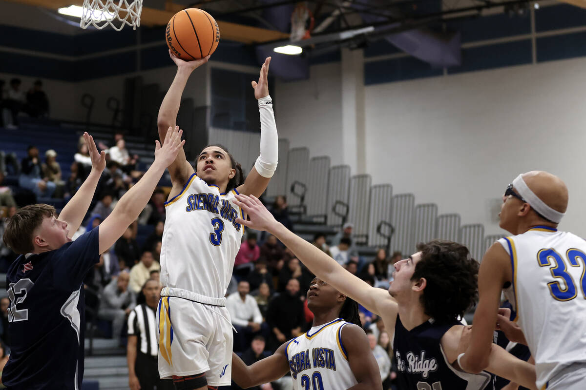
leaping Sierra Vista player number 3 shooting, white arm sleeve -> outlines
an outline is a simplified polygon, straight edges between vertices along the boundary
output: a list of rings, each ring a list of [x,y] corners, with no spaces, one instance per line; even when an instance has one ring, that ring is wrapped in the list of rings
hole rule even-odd
[[[169,51],[177,74],[159,110],[161,139],[175,126],[189,75],[209,56],[183,61]],[[237,194],[260,196],[277,168],[278,136],[268,94],[268,57],[253,81],[258,99],[260,156],[244,180],[242,168],[222,145],[205,147],[196,170],[180,151],[169,165],[172,190],[166,202],[158,308],[159,375],[178,390],[230,385],[233,334],[226,290],[240,248],[244,218]]]

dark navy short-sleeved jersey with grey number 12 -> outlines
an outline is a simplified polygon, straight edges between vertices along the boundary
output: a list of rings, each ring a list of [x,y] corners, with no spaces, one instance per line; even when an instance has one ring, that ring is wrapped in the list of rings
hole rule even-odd
[[[83,279],[100,260],[98,227],[57,250],[19,256],[8,268],[9,389],[81,389]]]

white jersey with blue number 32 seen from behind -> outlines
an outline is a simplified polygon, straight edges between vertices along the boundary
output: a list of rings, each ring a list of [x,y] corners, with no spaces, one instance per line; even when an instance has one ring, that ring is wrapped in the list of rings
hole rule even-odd
[[[537,226],[499,243],[513,268],[505,296],[516,310],[541,388],[568,364],[586,362],[586,241]]]

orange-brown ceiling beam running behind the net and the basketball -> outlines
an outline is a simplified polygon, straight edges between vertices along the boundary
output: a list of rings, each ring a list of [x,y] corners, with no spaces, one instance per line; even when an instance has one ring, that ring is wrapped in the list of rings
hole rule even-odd
[[[60,7],[70,5],[83,5],[81,0],[7,0],[16,3],[39,6],[57,10]],[[185,6],[179,4],[166,4],[168,10],[155,9],[143,7],[141,13],[141,25],[143,26],[165,26],[175,13],[185,9]],[[239,25],[237,23],[223,22],[217,20],[220,27],[220,37],[222,39],[233,40],[241,43],[264,43],[274,40],[289,39],[288,33],[280,31],[263,29],[260,27],[252,27],[246,25]]]

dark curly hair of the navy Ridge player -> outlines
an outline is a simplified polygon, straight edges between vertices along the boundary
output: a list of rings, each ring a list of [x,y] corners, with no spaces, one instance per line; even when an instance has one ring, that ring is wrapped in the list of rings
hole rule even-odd
[[[452,241],[433,240],[417,249],[421,260],[411,280],[427,281],[421,295],[425,314],[438,322],[464,316],[478,301],[478,262],[468,248]]]

